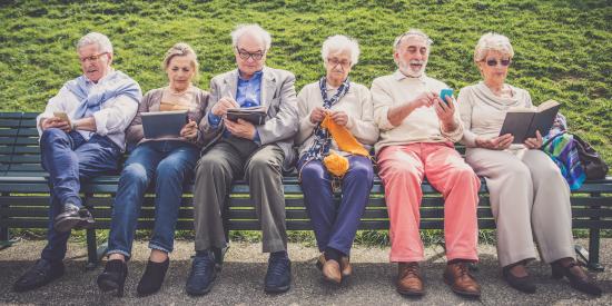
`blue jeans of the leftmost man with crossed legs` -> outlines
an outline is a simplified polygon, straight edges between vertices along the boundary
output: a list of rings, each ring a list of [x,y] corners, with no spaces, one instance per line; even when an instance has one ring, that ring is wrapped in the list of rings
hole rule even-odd
[[[51,190],[47,246],[41,258],[57,261],[66,256],[66,243],[70,231],[59,233],[53,228],[56,216],[63,204],[70,201],[82,206],[79,190],[81,181],[117,170],[121,150],[108,137],[93,135],[89,140],[77,131],[69,134],[50,128],[40,137],[42,167],[49,172]]]

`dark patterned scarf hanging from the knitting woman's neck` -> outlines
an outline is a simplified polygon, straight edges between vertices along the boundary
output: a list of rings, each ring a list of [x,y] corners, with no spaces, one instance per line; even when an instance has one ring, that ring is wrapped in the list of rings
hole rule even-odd
[[[327,80],[325,77],[320,78],[318,81],[318,87],[320,89],[320,95],[323,97],[323,107],[325,109],[330,109],[332,106],[334,106],[336,102],[348,92],[348,88],[351,87],[348,78],[344,80],[344,82],[338,87],[338,91],[332,97],[327,97]],[[315,127],[315,141],[313,142],[313,146],[308,149],[306,152],[306,162],[310,160],[323,160],[323,158],[329,154],[329,145],[332,144],[332,137],[329,136],[329,131],[323,127],[320,127],[320,122],[317,124]],[[306,165],[304,162],[304,165]]]

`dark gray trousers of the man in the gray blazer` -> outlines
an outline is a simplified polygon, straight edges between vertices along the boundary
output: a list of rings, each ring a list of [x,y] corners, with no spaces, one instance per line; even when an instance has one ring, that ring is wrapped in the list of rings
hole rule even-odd
[[[194,186],[196,250],[227,245],[221,214],[231,181],[243,174],[261,226],[263,251],[287,249],[284,158],[277,145],[259,147],[250,140],[230,137],[215,145],[199,159]]]

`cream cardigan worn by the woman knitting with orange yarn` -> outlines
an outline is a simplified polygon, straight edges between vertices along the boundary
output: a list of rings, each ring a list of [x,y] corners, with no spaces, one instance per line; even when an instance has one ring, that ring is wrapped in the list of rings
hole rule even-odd
[[[328,89],[327,96],[332,97],[337,89]],[[310,122],[310,112],[315,107],[323,107],[323,97],[318,81],[306,85],[297,95],[297,109],[299,115],[299,131],[295,137],[296,145],[299,145],[299,156],[308,151],[315,139],[315,125]],[[369,90],[359,83],[351,82],[348,92],[339,99],[332,110],[342,110],[348,116],[346,128],[367,150],[378,139],[378,128],[374,125],[372,100]],[[330,149],[339,151],[335,141],[332,141]],[[342,152],[340,152],[342,154]]]

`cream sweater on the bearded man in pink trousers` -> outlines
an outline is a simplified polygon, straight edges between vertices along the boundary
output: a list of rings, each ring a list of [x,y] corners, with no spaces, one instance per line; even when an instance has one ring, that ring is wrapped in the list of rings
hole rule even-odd
[[[381,129],[381,139],[375,146],[378,154],[382,148],[413,142],[456,142],[463,135],[458,107],[455,103],[455,124],[453,131],[444,131],[433,107],[419,107],[404,118],[402,125],[394,127],[387,119],[389,108],[414,100],[418,95],[430,91],[440,93],[448,88],[444,82],[425,75],[421,78],[408,78],[399,70],[393,75],[376,78],[372,82],[372,101],[374,120]]]

